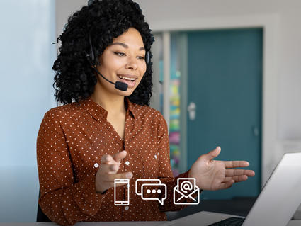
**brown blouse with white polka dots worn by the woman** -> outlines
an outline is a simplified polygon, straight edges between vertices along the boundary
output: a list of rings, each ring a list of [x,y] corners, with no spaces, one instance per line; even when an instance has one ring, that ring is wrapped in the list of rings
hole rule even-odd
[[[91,98],[50,109],[42,120],[37,139],[39,204],[59,225],[79,221],[166,220],[164,211],[174,205],[176,178],[171,173],[169,135],[159,111],[131,103],[127,98],[125,137],[122,140],[106,120],[107,111]],[[114,205],[114,188],[96,193],[95,176],[103,154],[127,151],[118,173],[133,172],[130,187],[116,189],[122,200],[130,189],[130,205]],[[178,177],[187,177],[188,172]],[[167,186],[164,205],[143,200],[135,193],[137,179],[160,179]],[[161,194],[158,194],[161,196]]]

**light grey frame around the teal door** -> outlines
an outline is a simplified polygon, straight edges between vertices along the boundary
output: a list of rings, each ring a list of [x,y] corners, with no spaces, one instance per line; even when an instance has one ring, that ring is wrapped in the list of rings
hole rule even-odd
[[[153,32],[161,32],[165,36],[164,45],[170,45],[172,31],[209,30],[227,28],[262,28],[263,29],[263,74],[262,74],[262,134],[261,134],[261,187],[266,183],[273,171],[273,155],[277,144],[277,49],[278,49],[278,24],[277,14],[244,15],[232,17],[207,17],[207,18],[178,18],[176,20],[159,21],[151,23]],[[164,68],[169,68],[170,56],[164,54]],[[164,71],[164,81],[169,81],[169,70]],[[187,76],[186,76],[187,78]],[[187,84],[186,79],[183,82]],[[166,82],[168,83],[168,82]],[[165,86],[166,87],[166,86]],[[183,92],[184,93],[184,92]],[[183,94],[182,93],[182,94]],[[164,89],[164,109],[169,109],[169,92]],[[181,96],[181,106],[187,106],[187,94]],[[181,109],[186,109],[181,108]],[[166,111],[168,113],[168,111]],[[186,120],[186,111],[181,111],[181,118]],[[169,115],[164,115],[167,119]],[[186,145],[186,123],[181,122],[181,142]],[[183,137],[184,135],[184,137]],[[209,151],[209,150],[208,150]],[[181,153],[182,154],[182,153]],[[183,160],[187,156],[181,156]],[[183,161],[184,162],[184,161]],[[186,161],[187,162],[187,161]],[[183,167],[182,167],[183,168]]]

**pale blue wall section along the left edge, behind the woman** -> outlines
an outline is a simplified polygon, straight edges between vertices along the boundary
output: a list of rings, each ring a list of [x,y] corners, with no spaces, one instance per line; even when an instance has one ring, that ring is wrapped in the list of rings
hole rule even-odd
[[[0,222],[34,222],[38,208],[35,143],[55,106],[55,2],[0,3]]]

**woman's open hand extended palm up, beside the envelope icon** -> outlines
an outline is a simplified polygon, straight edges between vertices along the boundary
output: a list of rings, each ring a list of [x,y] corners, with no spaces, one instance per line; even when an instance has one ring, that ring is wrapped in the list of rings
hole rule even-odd
[[[196,185],[203,190],[220,190],[232,186],[233,183],[246,181],[255,172],[245,169],[232,169],[249,166],[246,161],[212,160],[220,154],[220,147],[201,155],[191,166],[188,177],[195,178]]]

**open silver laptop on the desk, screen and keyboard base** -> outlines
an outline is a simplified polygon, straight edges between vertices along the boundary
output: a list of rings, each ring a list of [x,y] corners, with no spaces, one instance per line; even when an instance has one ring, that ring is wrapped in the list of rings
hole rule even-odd
[[[285,226],[290,222],[300,203],[301,152],[288,153],[283,155],[246,218],[202,211],[163,225]],[[220,220],[219,215],[226,219]]]

